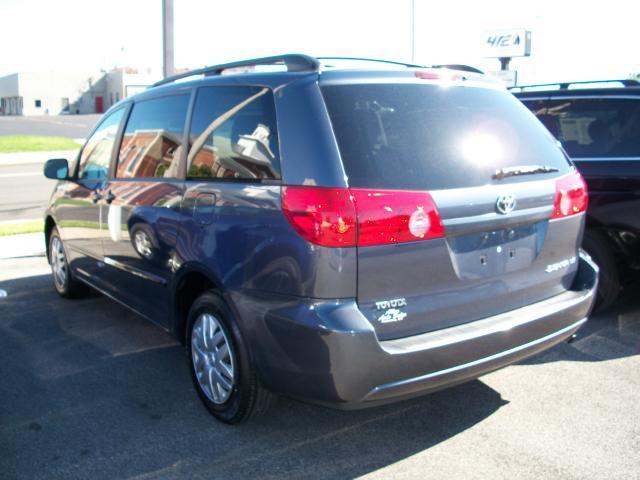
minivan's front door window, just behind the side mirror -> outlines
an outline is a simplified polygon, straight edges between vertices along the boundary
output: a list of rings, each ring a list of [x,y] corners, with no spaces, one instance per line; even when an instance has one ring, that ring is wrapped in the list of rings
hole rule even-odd
[[[80,156],[81,180],[101,180],[107,178],[113,144],[116,141],[118,127],[125,109],[121,108],[106,117],[98,129],[91,135]]]

